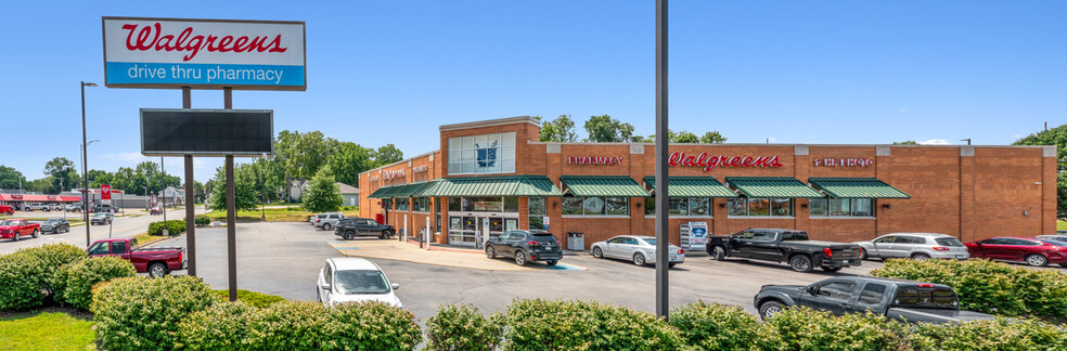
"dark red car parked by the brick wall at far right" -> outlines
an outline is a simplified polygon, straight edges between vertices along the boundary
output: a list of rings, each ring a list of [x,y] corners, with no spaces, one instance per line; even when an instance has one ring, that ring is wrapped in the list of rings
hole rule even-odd
[[[1033,266],[1055,263],[1067,266],[1067,247],[1028,237],[993,237],[967,243],[970,257],[999,261],[1025,262]]]

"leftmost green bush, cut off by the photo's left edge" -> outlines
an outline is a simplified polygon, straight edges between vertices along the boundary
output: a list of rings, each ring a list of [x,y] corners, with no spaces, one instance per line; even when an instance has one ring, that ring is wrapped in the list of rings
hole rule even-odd
[[[41,307],[65,286],[63,266],[87,257],[69,244],[24,248],[0,256],[0,310]]]

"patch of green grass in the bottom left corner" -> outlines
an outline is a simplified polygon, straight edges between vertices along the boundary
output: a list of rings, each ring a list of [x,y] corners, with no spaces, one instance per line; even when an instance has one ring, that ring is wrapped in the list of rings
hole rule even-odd
[[[63,312],[0,317],[0,350],[95,350],[92,322]]]

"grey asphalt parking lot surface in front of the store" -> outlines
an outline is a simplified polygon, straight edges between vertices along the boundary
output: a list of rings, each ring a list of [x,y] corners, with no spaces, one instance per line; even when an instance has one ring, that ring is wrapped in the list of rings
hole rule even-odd
[[[287,299],[314,300],[314,283],[323,261],[342,256],[329,244],[337,240],[332,232],[314,230],[305,223],[239,223],[236,237],[237,287]],[[377,240],[361,238],[350,243],[359,246],[361,242],[370,245]],[[216,289],[227,288],[226,229],[200,229],[196,242],[198,275]],[[181,236],[157,245],[184,246],[184,243],[185,237]],[[474,262],[488,261],[481,255],[470,255]],[[534,270],[502,271],[383,258],[370,260],[381,265],[393,283],[401,285],[397,295],[420,320],[432,316],[442,303],[470,303],[496,312],[515,298],[595,300],[655,311],[652,266],[594,259],[588,253],[567,256],[561,261],[584,270],[550,270],[539,264]],[[498,261],[509,263],[506,259]],[[882,263],[865,261],[862,266],[837,274],[864,275],[878,266]],[[692,256],[670,271],[670,303],[717,301],[755,313],[751,298],[762,285],[810,284],[833,275],[818,270],[797,273],[785,264],[717,262],[707,256]]]

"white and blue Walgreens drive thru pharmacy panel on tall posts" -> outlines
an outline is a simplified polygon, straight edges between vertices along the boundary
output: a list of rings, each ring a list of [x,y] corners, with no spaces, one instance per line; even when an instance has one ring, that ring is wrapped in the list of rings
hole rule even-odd
[[[307,90],[304,22],[102,22],[110,88]]]

